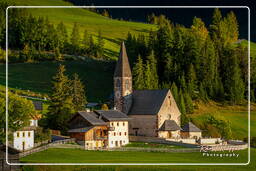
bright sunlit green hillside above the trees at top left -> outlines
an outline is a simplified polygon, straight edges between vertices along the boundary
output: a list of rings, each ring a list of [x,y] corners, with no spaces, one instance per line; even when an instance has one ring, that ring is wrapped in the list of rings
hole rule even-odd
[[[16,0],[17,5],[31,5],[31,6],[70,6],[72,4],[62,0]],[[94,12],[85,9],[74,8],[60,8],[60,9],[29,9],[34,16],[48,17],[50,22],[54,24],[63,23],[66,25],[69,35],[72,32],[73,24],[77,22],[80,26],[81,36],[86,29],[89,34],[97,36],[98,31],[102,31],[105,40],[105,54],[111,58],[116,59],[118,56],[120,42],[127,37],[127,33],[133,34],[147,33],[150,29],[156,29],[155,25],[119,21],[103,17]],[[96,37],[94,37],[96,39]]]

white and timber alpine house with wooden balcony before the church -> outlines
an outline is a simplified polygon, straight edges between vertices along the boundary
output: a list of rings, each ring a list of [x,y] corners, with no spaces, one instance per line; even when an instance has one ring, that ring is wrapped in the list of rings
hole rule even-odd
[[[113,148],[129,143],[126,114],[117,110],[79,111],[69,121],[69,135],[85,149]]]

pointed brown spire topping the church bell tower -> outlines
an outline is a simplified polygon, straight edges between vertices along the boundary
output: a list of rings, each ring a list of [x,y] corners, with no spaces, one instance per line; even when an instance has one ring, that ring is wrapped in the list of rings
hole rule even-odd
[[[116,64],[114,77],[132,77],[124,42],[121,43],[119,58]]]

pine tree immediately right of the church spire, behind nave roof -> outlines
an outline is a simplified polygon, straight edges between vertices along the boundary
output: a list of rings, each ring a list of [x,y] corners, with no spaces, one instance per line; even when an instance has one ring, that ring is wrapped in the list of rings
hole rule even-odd
[[[144,66],[141,56],[138,56],[137,63],[133,67],[133,81],[134,81],[134,88],[136,90],[142,90],[145,88],[144,82]]]

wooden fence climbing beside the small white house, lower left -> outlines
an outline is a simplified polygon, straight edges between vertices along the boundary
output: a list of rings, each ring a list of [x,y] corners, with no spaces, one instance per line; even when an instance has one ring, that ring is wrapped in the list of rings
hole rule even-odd
[[[50,147],[54,147],[54,146],[59,145],[59,144],[67,144],[67,143],[74,143],[74,142],[75,142],[74,138],[54,141],[54,142],[46,144],[44,146],[33,148],[33,149],[30,149],[30,150],[21,152],[21,153],[19,153],[19,157],[25,157],[25,156],[33,154],[33,153],[44,151],[44,150],[47,150]]]

